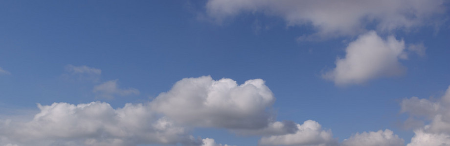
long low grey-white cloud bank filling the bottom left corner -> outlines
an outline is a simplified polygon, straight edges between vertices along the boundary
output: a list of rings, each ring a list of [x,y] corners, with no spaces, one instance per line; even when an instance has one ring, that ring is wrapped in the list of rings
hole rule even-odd
[[[200,145],[185,128],[155,116],[147,104],[126,104],[121,109],[102,102],[38,107],[40,112],[29,122],[1,122],[1,142],[20,146]]]

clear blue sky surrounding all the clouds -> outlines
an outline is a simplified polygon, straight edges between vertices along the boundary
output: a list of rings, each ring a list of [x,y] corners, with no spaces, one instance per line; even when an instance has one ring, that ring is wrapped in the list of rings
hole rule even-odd
[[[261,13],[217,24],[201,18],[205,2],[1,1],[0,67],[10,74],[0,75],[0,106],[38,112],[36,103],[103,101],[121,108],[151,101],[182,78],[210,75],[238,84],[261,78],[276,98],[278,121],[315,120],[339,141],[388,128],[407,144],[414,133],[401,126],[407,118],[400,113],[402,99],[438,98],[450,85],[448,21],[438,28],[379,33],[405,45],[422,42],[426,55],[400,60],[407,68],[401,75],[337,86],[322,74],[336,67],[337,57],[345,56],[357,36],[297,41],[314,28],[287,26]],[[100,69],[101,75],[97,81],[66,77],[67,65]],[[92,92],[116,79],[120,88],[140,93],[107,99]],[[259,139],[221,128],[195,128],[192,135],[237,146],[256,146]]]

